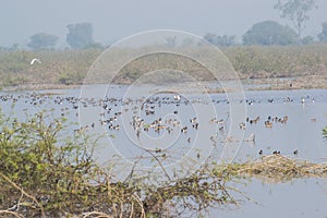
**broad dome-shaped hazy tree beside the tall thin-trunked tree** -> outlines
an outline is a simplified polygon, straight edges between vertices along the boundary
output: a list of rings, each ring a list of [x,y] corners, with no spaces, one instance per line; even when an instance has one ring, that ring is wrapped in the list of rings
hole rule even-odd
[[[275,21],[264,21],[254,24],[243,35],[244,45],[292,45],[296,44],[296,33],[289,26],[282,26]]]

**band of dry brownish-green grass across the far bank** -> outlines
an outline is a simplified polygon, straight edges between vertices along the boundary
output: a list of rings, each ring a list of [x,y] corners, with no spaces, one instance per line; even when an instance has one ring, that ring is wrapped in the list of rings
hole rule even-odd
[[[177,48],[194,50],[194,48]],[[1,86],[24,84],[81,84],[100,49],[44,50],[44,51],[0,51]],[[114,49],[119,59],[133,49]],[[206,53],[197,51],[198,56]],[[327,75],[327,44],[305,46],[238,46],[223,48],[241,78],[294,77]],[[31,65],[33,58],[41,59],[41,64]],[[208,61],[210,57],[206,57]],[[198,81],[210,81],[213,75],[193,60],[177,55],[157,53],[145,56],[125,65],[116,76],[116,82],[131,83],[144,73],[156,69],[179,69],[189,72]],[[161,80],[161,77],[160,77]],[[171,77],[173,81],[174,78]],[[95,76],[94,83],[104,83],[104,75]]]

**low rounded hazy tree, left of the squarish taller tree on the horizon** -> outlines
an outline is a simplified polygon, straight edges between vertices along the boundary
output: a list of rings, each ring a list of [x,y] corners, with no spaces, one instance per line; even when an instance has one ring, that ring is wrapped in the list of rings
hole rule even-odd
[[[31,43],[27,46],[33,49],[52,48],[56,46],[58,39],[58,36],[39,33],[31,36]]]

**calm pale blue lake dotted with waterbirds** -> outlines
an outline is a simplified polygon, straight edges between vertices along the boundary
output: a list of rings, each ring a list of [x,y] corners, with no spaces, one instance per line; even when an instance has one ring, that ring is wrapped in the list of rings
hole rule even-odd
[[[0,96],[5,114],[24,120],[26,113],[53,108],[55,117],[77,123],[70,134],[102,135],[95,156],[102,166],[114,162],[119,178],[135,166],[161,174],[165,168],[168,177],[183,177],[208,159],[243,162],[274,152],[327,161],[322,135],[327,125],[326,89],[245,90],[240,98],[187,88],[181,93],[160,86],[95,85],[82,92],[0,92]],[[237,208],[213,208],[205,216],[327,217],[324,179],[245,183],[235,186],[253,201]]]

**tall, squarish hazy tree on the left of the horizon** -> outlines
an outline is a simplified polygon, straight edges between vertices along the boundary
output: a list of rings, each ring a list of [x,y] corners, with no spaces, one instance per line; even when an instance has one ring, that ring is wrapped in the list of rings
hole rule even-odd
[[[94,45],[93,27],[90,23],[77,23],[66,26],[69,33],[66,35],[66,43],[73,49],[84,49]]]

